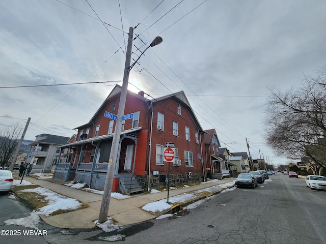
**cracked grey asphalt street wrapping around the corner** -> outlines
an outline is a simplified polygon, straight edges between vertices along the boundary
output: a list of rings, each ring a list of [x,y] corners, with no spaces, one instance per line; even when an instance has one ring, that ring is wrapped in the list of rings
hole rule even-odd
[[[1,195],[2,230],[22,226],[4,225],[5,219],[29,215],[18,201]],[[13,204],[14,202],[14,204]],[[306,187],[304,179],[277,173],[256,189],[239,188],[206,199],[183,211],[183,217],[152,220],[105,233],[100,229],[62,230],[41,222],[46,235],[2,236],[5,243],[326,243],[326,191]],[[13,215],[13,213],[15,213]],[[181,214],[180,214],[181,215]]]

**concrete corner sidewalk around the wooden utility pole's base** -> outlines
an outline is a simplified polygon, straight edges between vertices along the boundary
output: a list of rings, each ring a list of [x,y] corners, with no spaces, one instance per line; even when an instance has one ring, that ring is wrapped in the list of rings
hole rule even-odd
[[[46,179],[40,180],[33,177],[24,177],[24,180],[30,181],[33,184],[39,185],[40,187],[46,188],[70,198],[74,198],[89,205],[87,208],[66,212],[60,215],[50,217],[40,215],[42,220],[47,224],[68,229],[89,229],[95,227],[94,221],[99,217],[99,211],[103,197],[102,195],[70,188],[63,185],[66,182],[61,180],[51,180],[53,182],[50,182]],[[150,214],[149,212],[143,210],[142,207],[148,203],[167,199],[168,191],[161,191],[151,194],[131,195],[130,198],[119,200],[111,197],[110,206],[108,208],[108,217],[111,217],[117,225],[129,225],[151,220],[158,217],[159,215],[166,214],[167,212],[172,212],[172,209],[176,206],[182,208],[183,206],[203,198],[218,194],[224,189],[212,188],[209,191],[201,191],[200,193],[196,191],[225,184],[233,180],[234,179],[232,178],[222,179],[220,181],[205,182],[205,184],[195,185],[192,187],[169,190],[169,199],[174,196],[187,193],[196,194],[194,194],[192,199],[186,199],[185,201],[174,203],[174,206],[172,206],[171,209],[168,209],[165,212],[159,212],[157,214],[155,213],[156,215]],[[19,192],[15,193],[19,196]]]

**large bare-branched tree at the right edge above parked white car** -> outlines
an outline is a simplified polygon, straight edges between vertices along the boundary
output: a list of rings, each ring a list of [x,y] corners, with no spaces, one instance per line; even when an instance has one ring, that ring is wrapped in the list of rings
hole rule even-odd
[[[279,155],[308,157],[319,168],[326,167],[326,66],[285,92],[269,90],[266,142]]]

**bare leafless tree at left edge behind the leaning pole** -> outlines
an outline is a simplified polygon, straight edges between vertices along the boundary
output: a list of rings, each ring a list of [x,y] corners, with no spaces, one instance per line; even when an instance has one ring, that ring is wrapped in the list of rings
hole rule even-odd
[[[0,131],[0,165],[4,166],[13,156],[23,127],[13,123]],[[15,163],[15,162],[14,162]]]

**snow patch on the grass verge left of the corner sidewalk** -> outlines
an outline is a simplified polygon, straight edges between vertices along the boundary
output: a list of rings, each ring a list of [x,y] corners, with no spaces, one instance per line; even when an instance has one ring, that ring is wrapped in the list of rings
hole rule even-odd
[[[18,181],[20,183],[20,180],[14,180]],[[25,181],[25,180],[23,180]],[[26,181],[30,183],[29,181]],[[26,185],[34,185],[34,184],[28,184],[24,182]],[[17,182],[16,182],[17,183]],[[16,184],[19,185],[19,184]],[[47,201],[47,205],[44,207],[41,207],[37,210],[33,210],[28,217],[19,218],[19,219],[11,219],[4,221],[7,225],[20,225],[29,227],[32,229],[38,229],[38,223],[40,222],[39,215],[45,215],[49,216],[52,212],[55,212],[59,209],[62,210],[74,210],[78,209],[80,206],[82,206],[82,203],[78,202],[76,199],[69,198],[63,195],[60,195],[58,193],[52,192],[48,189],[45,189],[43,187],[38,187],[34,189],[25,189],[21,190],[21,192],[34,192],[42,196],[46,196],[44,199]]]

